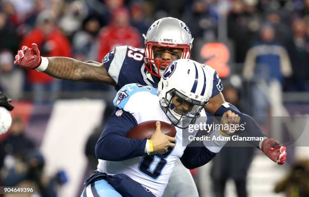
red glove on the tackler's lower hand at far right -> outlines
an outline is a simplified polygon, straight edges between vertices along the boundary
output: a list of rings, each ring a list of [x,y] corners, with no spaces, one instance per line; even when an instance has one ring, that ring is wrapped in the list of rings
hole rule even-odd
[[[286,147],[273,138],[266,139],[262,143],[263,153],[279,165],[284,164],[286,160]]]

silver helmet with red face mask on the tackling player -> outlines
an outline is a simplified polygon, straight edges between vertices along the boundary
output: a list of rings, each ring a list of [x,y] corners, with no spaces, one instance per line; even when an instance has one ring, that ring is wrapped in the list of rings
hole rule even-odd
[[[145,38],[145,67],[148,72],[161,77],[160,65],[168,66],[172,61],[158,60],[153,56],[153,46],[180,48],[181,59],[188,59],[191,54],[193,38],[186,24],[178,19],[167,17],[157,20],[147,31]],[[159,71],[159,72],[158,72]]]

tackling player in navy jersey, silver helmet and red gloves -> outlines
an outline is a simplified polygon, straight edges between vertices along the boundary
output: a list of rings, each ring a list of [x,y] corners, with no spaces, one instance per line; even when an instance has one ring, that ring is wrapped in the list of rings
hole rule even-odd
[[[154,22],[144,38],[145,48],[118,46],[109,52],[101,63],[82,62],[68,57],[41,57],[36,44],[32,44],[31,48],[23,46],[15,56],[14,63],[22,68],[36,69],[59,79],[107,83],[115,86],[116,90],[130,83],[157,87],[169,63],[179,58],[190,57],[193,38],[185,23],[171,17]],[[250,143],[260,148],[273,161],[283,164],[285,157],[279,159],[279,156],[280,150],[284,147],[274,139],[268,139],[251,117],[225,102],[221,93],[223,86],[217,72],[213,71],[210,83],[213,84],[213,92],[208,105],[204,107],[205,111],[215,116],[222,116],[230,110],[241,117],[246,117],[251,121],[251,126],[244,135],[264,138],[261,142]],[[177,191],[173,190],[172,195],[197,196],[189,171],[183,166],[175,169],[177,172],[173,172],[169,184],[175,183]],[[177,178],[179,176],[187,178]]]

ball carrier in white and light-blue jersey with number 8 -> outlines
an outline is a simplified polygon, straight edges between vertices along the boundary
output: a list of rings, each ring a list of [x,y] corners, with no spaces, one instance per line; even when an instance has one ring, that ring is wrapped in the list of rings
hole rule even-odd
[[[209,162],[227,141],[211,141],[201,144],[201,147],[187,147],[189,143],[183,141],[185,130],[182,128],[193,124],[209,102],[213,92],[212,76],[212,68],[193,60],[179,59],[172,62],[163,73],[158,91],[139,84],[128,84],[121,88],[114,99],[116,109],[96,144],[98,169],[86,181],[87,187],[81,196],[162,196],[174,163],[179,158],[189,169]],[[204,114],[203,119],[206,118]],[[156,132],[150,140],[125,137],[134,126],[148,120],[175,125],[176,137],[162,134],[160,122],[157,122]],[[239,120],[237,114],[227,111],[222,123],[236,124]],[[230,134],[229,130],[223,132]],[[220,137],[221,134],[219,130],[214,130],[209,135],[210,138],[212,136]],[[123,174],[128,176],[125,176],[124,183]],[[117,178],[121,181],[115,183],[113,180]],[[134,181],[128,181],[130,179]],[[110,185],[114,184],[117,186],[113,192]]]

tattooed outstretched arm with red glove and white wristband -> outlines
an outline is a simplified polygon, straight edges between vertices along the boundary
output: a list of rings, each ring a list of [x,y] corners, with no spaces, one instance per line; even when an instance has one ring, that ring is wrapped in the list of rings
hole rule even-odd
[[[69,57],[41,57],[36,44],[32,44],[32,48],[23,46],[15,55],[14,63],[21,68],[36,69],[59,79],[116,85],[103,63],[82,62]]]

